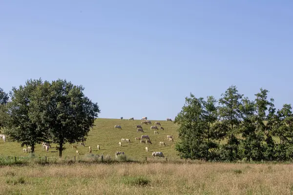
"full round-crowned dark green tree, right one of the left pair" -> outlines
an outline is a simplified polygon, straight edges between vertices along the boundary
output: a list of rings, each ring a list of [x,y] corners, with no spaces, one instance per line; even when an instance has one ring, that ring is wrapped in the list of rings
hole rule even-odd
[[[58,144],[62,157],[63,145],[85,141],[94,126],[100,109],[84,93],[83,86],[58,79],[45,81],[32,101],[32,118],[38,126],[47,128],[49,138]]]

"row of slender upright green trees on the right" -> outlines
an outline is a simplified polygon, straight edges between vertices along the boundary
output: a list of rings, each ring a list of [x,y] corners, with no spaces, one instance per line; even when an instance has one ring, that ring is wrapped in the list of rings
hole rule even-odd
[[[260,88],[250,100],[233,85],[219,100],[190,93],[174,121],[179,125],[179,156],[207,161],[292,160],[292,106],[276,110],[268,93]]]

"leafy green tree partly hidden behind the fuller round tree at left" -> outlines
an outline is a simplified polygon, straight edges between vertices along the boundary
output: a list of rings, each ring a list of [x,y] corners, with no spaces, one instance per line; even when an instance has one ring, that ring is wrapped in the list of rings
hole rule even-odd
[[[35,119],[30,117],[32,98],[41,85],[42,79],[30,79],[23,86],[13,87],[11,101],[5,107],[7,121],[4,133],[21,145],[30,145],[32,152],[36,144],[47,140],[45,128],[40,128]]]

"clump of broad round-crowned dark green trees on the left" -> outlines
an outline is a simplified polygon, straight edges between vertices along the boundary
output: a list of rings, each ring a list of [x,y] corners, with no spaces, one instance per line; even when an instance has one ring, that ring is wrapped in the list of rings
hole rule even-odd
[[[59,156],[65,143],[85,141],[100,109],[84,87],[63,79],[30,79],[9,94],[0,88],[0,130],[21,146],[56,143]]]

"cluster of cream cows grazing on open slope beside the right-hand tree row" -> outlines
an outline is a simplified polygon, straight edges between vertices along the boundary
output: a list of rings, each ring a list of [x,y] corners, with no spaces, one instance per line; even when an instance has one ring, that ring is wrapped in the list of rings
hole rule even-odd
[[[123,117],[120,117],[120,120],[122,120],[122,119],[123,119]],[[132,117],[132,118],[129,118],[128,120],[134,120],[134,118]],[[171,118],[167,118],[167,121],[172,121],[172,119]],[[152,123],[151,123],[150,120],[147,120],[147,117],[142,117],[141,124],[140,125],[136,125],[136,132],[137,133],[139,133],[139,132],[145,133],[144,132],[144,129],[143,129],[143,126],[142,126],[143,124],[146,124],[146,125],[150,124],[151,125]],[[159,125],[160,126],[160,130],[164,130],[164,128],[161,127],[160,122],[155,122],[154,124],[155,125],[150,126],[150,130],[154,130],[154,135],[159,134],[159,132],[156,131],[156,130],[159,130],[159,128],[156,125]],[[121,127],[121,125],[115,125],[114,126],[114,129],[121,129],[122,130],[122,127]],[[167,135],[167,139],[169,141],[173,141],[173,137],[170,136],[170,135]],[[135,137],[135,141],[136,140],[140,140],[140,144],[142,144],[142,143],[152,144],[152,142],[151,142],[151,140],[150,140],[150,138],[149,138],[148,135],[141,135],[141,137]],[[130,143],[130,139],[128,139],[128,138],[121,138],[121,141],[119,141],[119,143],[118,143],[119,146],[122,146],[122,142]],[[160,141],[159,144],[160,144],[160,146],[166,146],[166,143],[163,142],[163,141]],[[149,152],[148,151],[148,147],[146,147],[146,152]],[[119,155],[125,155],[125,153],[124,152],[121,152],[121,151],[120,152],[115,152],[115,157],[116,158]],[[165,157],[164,154],[163,154],[163,152],[152,152],[152,155],[151,156],[152,157],[155,157],[155,156]]]

